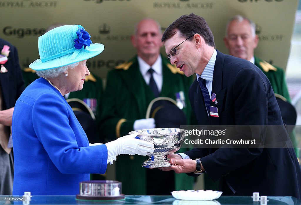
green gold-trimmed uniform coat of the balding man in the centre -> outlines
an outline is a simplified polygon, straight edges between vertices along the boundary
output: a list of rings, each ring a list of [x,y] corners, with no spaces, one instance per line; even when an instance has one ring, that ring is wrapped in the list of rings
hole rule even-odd
[[[193,78],[183,75],[164,57],[162,57],[162,63],[163,86],[160,96],[176,99],[175,93],[183,91],[186,103],[183,111],[188,123],[191,123],[191,119],[195,122],[188,98],[188,90]],[[137,56],[110,71],[102,106],[100,124],[102,136],[115,140],[116,137],[122,137],[133,131],[134,121],[146,118],[147,106],[154,98],[154,94],[140,73]],[[179,152],[183,151],[185,149]],[[139,155],[117,156],[117,160],[114,162],[116,163],[116,178],[123,183],[123,194],[146,194],[146,168],[141,165],[147,158]],[[176,190],[191,190],[193,181],[194,178],[186,174],[175,174]],[[160,184],[158,185],[160,186]]]

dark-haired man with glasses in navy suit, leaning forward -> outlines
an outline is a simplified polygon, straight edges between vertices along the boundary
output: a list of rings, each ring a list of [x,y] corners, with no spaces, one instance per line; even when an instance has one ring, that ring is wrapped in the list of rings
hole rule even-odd
[[[170,154],[174,166],[159,169],[192,176],[206,173],[220,181],[223,195],[252,196],[256,191],[300,199],[301,169],[265,74],[249,61],[216,50],[209,26],[195,14],[183,15],[169,25],[162,42],[172,65],[186,76],[197,75],[189,100],[199,125],[235,125],[229,131],[230,140],[258,141],[252,147],[220,143],[221,147]]]

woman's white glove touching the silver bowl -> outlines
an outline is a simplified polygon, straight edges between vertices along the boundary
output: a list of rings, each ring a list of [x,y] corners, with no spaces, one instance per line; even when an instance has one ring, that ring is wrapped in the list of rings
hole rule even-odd
[[[108,159],[114,158],[119,154],[138,154],[147,155],[154,152],[154,144],[143,140],[135,139],[138,133],[119,137],[117,140],[106,143]]]

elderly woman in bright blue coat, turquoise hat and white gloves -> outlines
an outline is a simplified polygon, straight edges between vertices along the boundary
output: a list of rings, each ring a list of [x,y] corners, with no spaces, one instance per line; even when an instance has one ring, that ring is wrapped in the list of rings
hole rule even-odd
[[[127,135],[106,144],[89,144],[66,93],[81,90],[90,73],[87,59],[104,46],[93,43],[80,25],[54,28],[39,37],[40,59],[29,65],[39,79],[17,100],[13,120],[13,194],[75,195],[89,173],[104,174],[119,154],[146,155],[152,143]]]

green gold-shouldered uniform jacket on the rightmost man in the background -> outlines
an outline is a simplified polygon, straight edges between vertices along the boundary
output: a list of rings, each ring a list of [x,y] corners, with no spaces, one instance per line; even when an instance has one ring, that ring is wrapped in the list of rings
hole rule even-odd
[[[254,58],[255,58],[254,64],[258,68],[260,68],[260,70],[262,70],[262,72],[266,75],[266,77],[268,77],[268,80],[270,80],[271,82],[274,93],[284,96],[287,99],[287,101],[290,102],[290,95],[287,90],[285,75],[282,68],[273,66],[256,56],[254,56]],[[296,135],[294,130],[290,133],[290,140],[292,141],[293,147],[295,147],[294,149],[297,157],[299,157],[297,140],[296,140]]]

